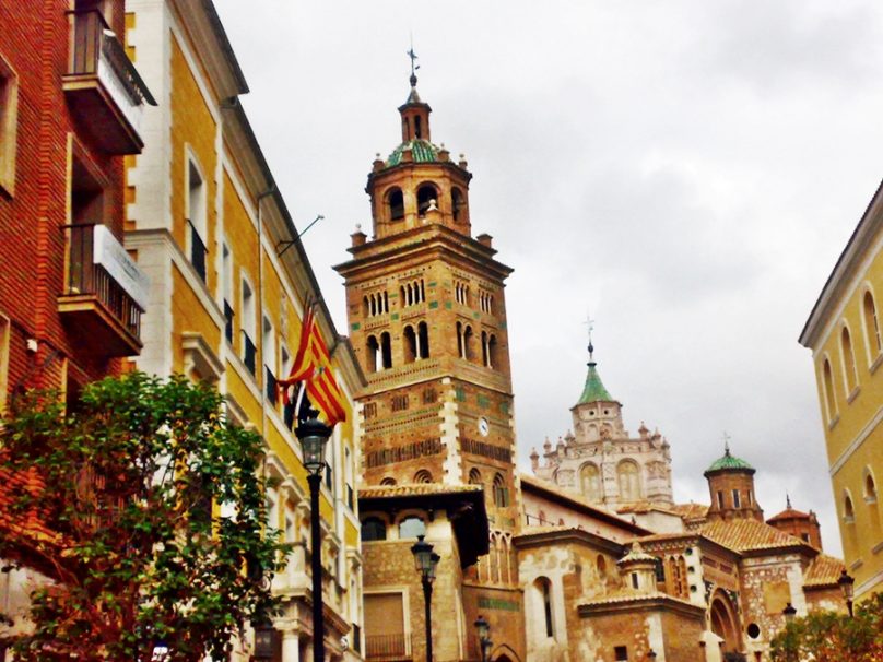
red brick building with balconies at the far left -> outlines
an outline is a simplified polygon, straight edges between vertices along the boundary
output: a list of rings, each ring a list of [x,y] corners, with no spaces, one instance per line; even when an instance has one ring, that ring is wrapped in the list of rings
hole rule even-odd
[[[0,4],[0,405],[75,392],[141,347],[122,155],[153,99],[125,20],[122,0]]]

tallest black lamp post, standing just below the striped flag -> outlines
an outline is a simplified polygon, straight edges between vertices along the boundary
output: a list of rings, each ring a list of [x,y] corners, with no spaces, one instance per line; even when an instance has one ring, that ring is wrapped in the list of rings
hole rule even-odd
[[[325,662],[325,616],[322,615],[322,536],[319,520],[319,485],[325,469],[325,447],[331,428],[319,421],[319,412],[309,411],[309,418],[302,421],[294,430],[304,450],[304,468],[309,484],[309,533],[313,555],[313,660]]]

